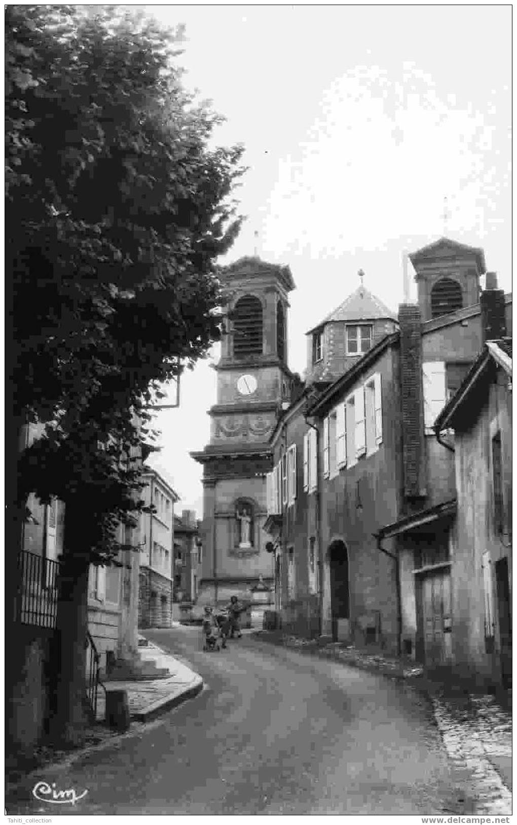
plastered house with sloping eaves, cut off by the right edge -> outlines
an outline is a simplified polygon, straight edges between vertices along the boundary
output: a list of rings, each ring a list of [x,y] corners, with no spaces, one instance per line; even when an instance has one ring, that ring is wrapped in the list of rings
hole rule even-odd
[[[501,293],[499,298],[501,306]],[[501,307],[502,309],[502,307]],[[492,317],[493,321],[493,317]],[[511,338],[487,341],[435,422],[454,431],[457,516],[450,559],[454,672],[511,686]]]

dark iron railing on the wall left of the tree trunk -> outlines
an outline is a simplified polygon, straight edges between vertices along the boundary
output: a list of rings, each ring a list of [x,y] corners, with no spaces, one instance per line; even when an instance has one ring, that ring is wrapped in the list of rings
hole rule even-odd
[[[21,550],[18,567],[20,588],[16,599],[17,620],[23,625],[55,628],[59,562]]]

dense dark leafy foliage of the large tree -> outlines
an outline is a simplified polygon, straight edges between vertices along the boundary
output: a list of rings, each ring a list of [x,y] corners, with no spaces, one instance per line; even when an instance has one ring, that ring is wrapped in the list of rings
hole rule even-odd
[[[220,336],[242,148],[184,90],[179,31],[123,7],[6,9],[7,283],[18,499],[81,502],[81,553],[136,506],[147,405]],[[138,426],[136,424],[138,422]]]

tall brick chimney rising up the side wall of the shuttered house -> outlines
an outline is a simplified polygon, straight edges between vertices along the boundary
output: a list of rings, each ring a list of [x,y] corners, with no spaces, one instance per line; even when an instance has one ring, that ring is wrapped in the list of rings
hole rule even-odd
[[[426,496],[424,406],[422,397],[422,321],[416,304],[401,304],[400,373],[402,391],[402,433],[404,496]]]

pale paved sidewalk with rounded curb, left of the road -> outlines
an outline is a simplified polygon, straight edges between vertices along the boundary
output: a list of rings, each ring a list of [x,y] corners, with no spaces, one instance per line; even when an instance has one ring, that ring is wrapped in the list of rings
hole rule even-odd
[[[140,637],[145,639],[145,637]],[[198,673],[179,662],[170,653],[165,653],[155,644],[147,642],[139,647],[138,653],[143,662],[155,662],[156,667],[165,667],[170,676],[145,681],[106,681],[106,691],[127,691],[131,719],[147,722],[156,714],[179,705],[184,700],[197,695],[203,688],[203,679]],[[99,688],[97,698],[97,721],[105,719],[105,691]]]

